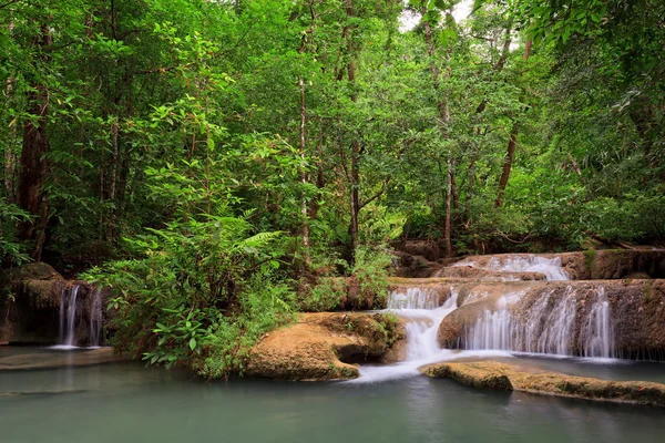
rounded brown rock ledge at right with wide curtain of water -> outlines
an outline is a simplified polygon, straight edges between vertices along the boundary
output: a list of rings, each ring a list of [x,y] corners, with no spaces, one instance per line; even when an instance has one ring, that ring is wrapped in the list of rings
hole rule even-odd
[[[460,297],[462,293],[460,293]],[[663,360],[665,282],[469,284],[439,344],[589,358]]]

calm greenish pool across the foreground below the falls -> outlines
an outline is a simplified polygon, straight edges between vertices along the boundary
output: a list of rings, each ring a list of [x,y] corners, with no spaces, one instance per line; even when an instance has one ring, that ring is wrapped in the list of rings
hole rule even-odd
[[[483,392],[426,377],[205,383],[110,363],[0,372],[0,430],[2,443],[655,443],[665,420],[657,409]]]

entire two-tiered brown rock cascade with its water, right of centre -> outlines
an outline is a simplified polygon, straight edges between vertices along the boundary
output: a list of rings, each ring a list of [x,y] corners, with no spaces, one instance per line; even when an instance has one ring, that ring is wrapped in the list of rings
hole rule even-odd
[[[644,257],[600,251],[596,264],[613,256],[622,274],[633,267],[655,276],[662,267],[662,256],[652,251]],[[574,280],[589,274],[589,257],[473,256],[439,267],[430,278],[393,279],[386,307],[406,323],[405,361],[361,367],[360,380],[513,353],[664,361],[665,280]]]

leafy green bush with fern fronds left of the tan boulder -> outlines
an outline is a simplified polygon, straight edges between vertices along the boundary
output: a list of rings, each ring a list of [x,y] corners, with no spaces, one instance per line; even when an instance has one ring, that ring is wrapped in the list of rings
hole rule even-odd
[[[131,240],[143,258],[88,272],[119,295],[110,303],[117,310],[114,347],[208,378],[241,371],[248,347],[288,321],[293,305],[293,292],[275,277],[278,234],[248,237],[248,229],[233,217],[173,223]]]

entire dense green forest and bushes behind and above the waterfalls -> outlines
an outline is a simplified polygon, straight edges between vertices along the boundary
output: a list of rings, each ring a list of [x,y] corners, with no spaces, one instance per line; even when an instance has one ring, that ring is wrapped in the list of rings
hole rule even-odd
[[[664,17],[651,0],[4,2],[2,267],[88,271],[115,290],[121,351],[219,377],[330,309],[329,278],[380,293],[409,238],[444,256],[662,243]]]

